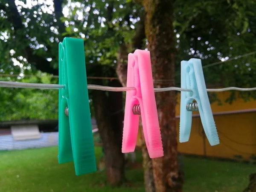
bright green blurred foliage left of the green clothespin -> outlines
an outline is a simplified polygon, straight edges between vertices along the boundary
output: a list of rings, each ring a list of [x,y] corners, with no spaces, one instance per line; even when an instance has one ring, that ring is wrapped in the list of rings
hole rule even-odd
[[[0,77],[0,81],[15,81],[16,77]],[[19,82],[58,83],[46,73],[23,78]],[[58,119],[58,90],[35,90],[0,87],[0,121],[20,119]]]

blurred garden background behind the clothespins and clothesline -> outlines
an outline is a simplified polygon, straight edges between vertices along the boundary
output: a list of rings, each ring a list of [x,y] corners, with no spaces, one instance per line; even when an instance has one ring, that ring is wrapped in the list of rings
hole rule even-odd
[[[0,81],[58,84],[58,43],[84,40],[88,84],[126,86],[128,53],[150,51],[154,87],[180,87],[200,58],[207,88],[256,87],[254,0],[0,0]],[[155,93],[165,151],[140,126],[122,154],[125,93],[89,90],[98,171],[58,164],[58,90],[0,87],[0,192],[256,192],[256,92],[209,92],[220,144],[199,113],[179,143],[180,92]]]

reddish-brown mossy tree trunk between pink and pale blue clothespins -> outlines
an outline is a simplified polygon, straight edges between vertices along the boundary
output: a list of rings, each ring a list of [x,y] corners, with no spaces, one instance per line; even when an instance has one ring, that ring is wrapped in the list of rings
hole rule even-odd
[[[173,0],[143,0],[145,33],[151,54],[155,87],[174,86],[175,63],[172,27]],[[156,192],[181,192],[183,177],[177,160],[174,91],[156,94],[164,157],[152,159]]]

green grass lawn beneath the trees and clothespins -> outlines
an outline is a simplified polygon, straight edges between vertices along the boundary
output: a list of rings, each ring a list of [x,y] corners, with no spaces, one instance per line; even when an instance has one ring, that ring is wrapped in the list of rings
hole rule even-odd
[[[97,160],[101,154],[96,147]],[[126,170],[131,187],[112,188],[104,172],[76,176],[73,163],[58,164],[57,155],[57,147],[0,151],[0,192],[145,191],[142,169]],[[241,192],[256,165],[184,157],[183,170],[184,192]]]

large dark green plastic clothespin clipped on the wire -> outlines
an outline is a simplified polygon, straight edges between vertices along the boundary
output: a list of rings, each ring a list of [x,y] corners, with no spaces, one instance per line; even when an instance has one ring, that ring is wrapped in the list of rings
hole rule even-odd
[[[64,84],[65,89],[59,90],[58,162],[74,161],[76,175],[95,172],[82,39],[64,38],[59,43],[59,84]]]

